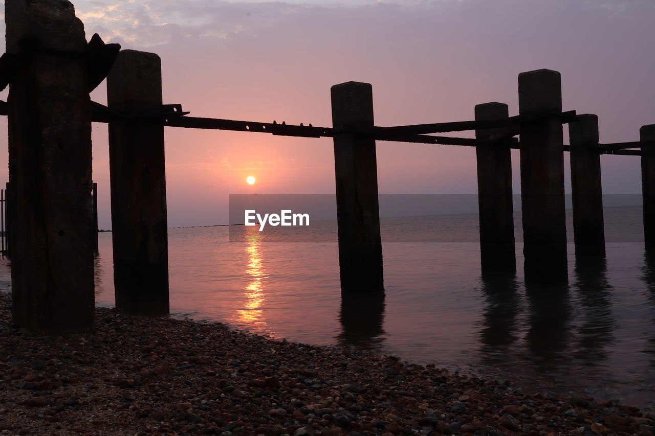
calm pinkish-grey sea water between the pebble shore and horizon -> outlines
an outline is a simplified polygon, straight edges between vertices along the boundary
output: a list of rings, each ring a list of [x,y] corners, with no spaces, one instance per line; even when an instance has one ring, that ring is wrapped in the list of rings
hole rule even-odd
[[[229,242],[228,227],[173,228],[171,308],[174,316],[261,335],[376,348],[650,408],[655,259],[634,242],[643,234],[641,208],[607,208],[605,221],[616,241],[608,242],[605,263],[576,265],[569,244],[569,285],[533,289],[523,282],[521,244],[516,276],[489,281],[481,278],[476,242],[420,242],[428,232],[475,241],[476,214],[383,219],[383,241],[415,234],[416,242],[384,242],[384,299],[343,304],[336,242],[265,242],[252,227],[242,227],[253,232],[250,242]],[[96,300],[112,306],[111,233],[99,239]]]

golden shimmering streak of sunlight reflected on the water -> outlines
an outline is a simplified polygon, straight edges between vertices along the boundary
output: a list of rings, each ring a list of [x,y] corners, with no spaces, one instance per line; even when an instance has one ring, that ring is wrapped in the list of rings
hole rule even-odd
[[[238,310],[238,320],[246,323],[263,323],[261,304],[264,302],[264,282],[267,278],[262,264],[261,235],[254,227],[246,234],[248,264],[244,271],[250,282],[244,287],[243,308]]]

